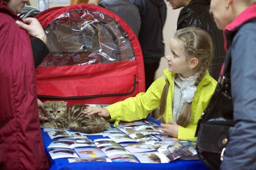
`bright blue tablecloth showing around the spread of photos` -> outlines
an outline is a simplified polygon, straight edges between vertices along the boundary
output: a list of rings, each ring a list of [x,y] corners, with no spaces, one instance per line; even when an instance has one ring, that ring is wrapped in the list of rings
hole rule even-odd
[[[154,122],[155,124],[160,125],[160,121],[155,120],[151,116],[147,117],[148,121]],[[47,152],[47,147],[52,142],[52,139],[49,138],[47,132],[42,131],[42,137],[44,142],[44,148]],[[102,138],[102,136],[89,136],[90,139]],[[207,169],[208,168],[200,160],[174,160],[171,163],[160,163],[160,164],[150,164],[150,163],[117,163],[117,162],[79,162],[79,163],[69,163],[68,159],[51,159],[51,156],[47,152],[49,162],[51,167],[49,169],[139,169],[139,170],[149,170],[149,169],[189,169],[189,170],[198,170],[198,169]]]

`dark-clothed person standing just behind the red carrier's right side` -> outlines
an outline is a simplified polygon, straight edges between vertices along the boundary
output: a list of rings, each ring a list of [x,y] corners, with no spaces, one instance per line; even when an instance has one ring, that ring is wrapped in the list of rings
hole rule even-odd
[[[163,27],[166,22],[167,7],[164,0],[130,0],[139,8],[141,44],[146,90],[155,80],[155,72],[159,67],[160,58],[164,56]]]

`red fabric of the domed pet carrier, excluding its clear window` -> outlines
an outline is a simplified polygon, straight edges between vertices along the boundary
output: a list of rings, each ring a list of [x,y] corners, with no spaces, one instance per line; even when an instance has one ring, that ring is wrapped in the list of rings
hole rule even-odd
[[[61,97],[81,97],[80,99],[63,99],[68,101],[69,105],[76,103],[112,104],[127,97],[135,96],[139,92],[144,92],[144,64],[141,46],[129,25],[114,12],[99,6],[78,4],[49,8],[47,11],[36,15],[35,18],[38,18],[42,27],[45,28],[57,16],[79,9],[98,11],[115,19],[129,36],[136,59],[135,61],[86,66],[38,67],[36,69],[38,95],[56,95],[56,100],[63,99]],[[136,75],[135,89],[134,75]],[[120,96],[120,94],[131,91],[133,91],[133,94]],[[94,95],[109,96],[96,97]],[[41,100],[54,100],[54,98],[41,98]]]

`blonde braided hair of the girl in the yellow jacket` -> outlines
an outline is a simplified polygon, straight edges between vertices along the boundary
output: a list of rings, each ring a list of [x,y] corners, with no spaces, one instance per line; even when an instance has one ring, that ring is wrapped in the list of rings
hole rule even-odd
[[[199,60],[195,67],[196,73],[199,73],[195,82],[197,87],[201,80],[204,78],[205,72],[208,69],[210,61],[213,57],[213,42],[210,35],[201,28],[187,27],[179,29],[174,34],[174,39],[178,39],[184,42],[185,56],[189,58],[197,58]],[[162,117],[164,109],[166,107],[166,98],[170,82],[166,82],[163,89],[163,94],[160,99],[160,111],[159,114]],[[183,109],[180,112],[180,116],[177,120],[177,124],[183,127],[187,127],[191,120],[191,103],[185,103]]]

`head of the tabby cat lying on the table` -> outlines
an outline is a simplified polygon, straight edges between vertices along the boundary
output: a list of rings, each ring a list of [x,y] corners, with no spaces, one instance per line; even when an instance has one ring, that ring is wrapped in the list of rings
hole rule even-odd
[[[44,111],[48,118],[57,119],[67,111],[66,101],[44,101]]]

